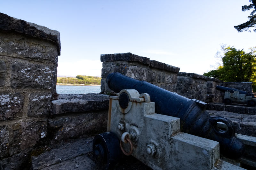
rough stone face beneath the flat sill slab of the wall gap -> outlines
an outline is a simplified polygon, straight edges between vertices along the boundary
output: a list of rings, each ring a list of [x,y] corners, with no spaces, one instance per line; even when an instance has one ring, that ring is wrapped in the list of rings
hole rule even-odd
[[[49,120],[49,129],[54,140],[77,138],[84,134],[107,131],[108,109],[100,111],[64,114]]]

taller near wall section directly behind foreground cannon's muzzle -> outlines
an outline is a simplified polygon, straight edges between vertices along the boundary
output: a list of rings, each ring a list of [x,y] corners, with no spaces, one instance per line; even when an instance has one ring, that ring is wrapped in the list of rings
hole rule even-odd
[[[177,91],[177,73],[179,67],[174,67],[147,57],[140,57],[132,53],[101,54],[101,94],[115,94],[108,88],[106,78],[108,74],[119,72],[128,77],[144,80],[163,89]]]

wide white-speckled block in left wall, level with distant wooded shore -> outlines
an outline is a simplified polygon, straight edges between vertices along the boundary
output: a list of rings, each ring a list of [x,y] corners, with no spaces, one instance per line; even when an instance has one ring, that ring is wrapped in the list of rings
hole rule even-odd
[[[11,86],[14,89],[52,89],[57,69],[54,66],[12,63]]]

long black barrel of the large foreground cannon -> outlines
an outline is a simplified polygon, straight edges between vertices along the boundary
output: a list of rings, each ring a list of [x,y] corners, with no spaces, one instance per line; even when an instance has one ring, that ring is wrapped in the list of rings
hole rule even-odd
[[[180,130],[195,136],[208,138],[220,143],[220,153],[230,159],[240,158],[245,150],[243,142],[235,137],[233,123],[224,117],[210,117],[209,113],[195,101],[172,93],[146,81],[139,81],[120,73],[111,73],[107,77],[108,87],[116,93],[122,89],[135,89],[140,94],[148,93],[155,102],[155,112],[180,118]],[[221,131],[217,122],[228,126]]]

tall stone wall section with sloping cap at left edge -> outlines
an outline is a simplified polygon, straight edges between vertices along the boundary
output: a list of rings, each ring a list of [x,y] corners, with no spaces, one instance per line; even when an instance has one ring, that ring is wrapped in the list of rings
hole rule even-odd
[[[0,13],[0,169],[24,169],[47,136],[58,55],[58,31]]]

